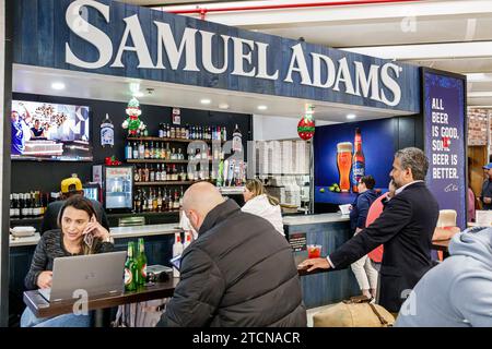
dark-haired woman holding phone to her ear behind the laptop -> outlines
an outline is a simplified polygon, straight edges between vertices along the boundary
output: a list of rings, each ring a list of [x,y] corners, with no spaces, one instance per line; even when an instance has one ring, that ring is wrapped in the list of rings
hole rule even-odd
[[[96,220],[90,200],[82,195],[68,198],[58,215],[60,229],[46,231],[34,252],[24,285],[27,290],[51,287],[54,260],[57,257],[112,252],[114,241],[109,231]],[[21,327],[87,327],[89,315],[65,314],[38,318],[26,308]]]

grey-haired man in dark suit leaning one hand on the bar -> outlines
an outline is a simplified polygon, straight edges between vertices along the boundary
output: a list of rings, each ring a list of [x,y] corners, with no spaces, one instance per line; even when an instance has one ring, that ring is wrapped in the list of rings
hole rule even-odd
[[[371,226],[325,258],[313,258],[300,267],[347,268],[384,244],[379,275],[379,304],[398,312],[420,278],[433,266],[432,234],[438,204],[424,183],[429,160],[421,149],[405,148],[395,154],[390,177],[396,195]]]

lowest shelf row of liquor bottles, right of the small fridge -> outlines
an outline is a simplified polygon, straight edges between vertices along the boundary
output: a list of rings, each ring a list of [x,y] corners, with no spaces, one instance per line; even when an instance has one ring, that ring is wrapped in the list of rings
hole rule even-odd
[[[136,213],[177,212],[183,206],[184,190],[149,188],[139,189],[133,196]]]

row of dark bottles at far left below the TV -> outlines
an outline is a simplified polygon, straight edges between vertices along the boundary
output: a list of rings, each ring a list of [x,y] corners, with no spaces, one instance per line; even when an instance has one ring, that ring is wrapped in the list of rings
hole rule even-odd
[[[37,218],[42,217],[48,206],[49,194],[40,191],[30,193],[10,194],[10,218]]]

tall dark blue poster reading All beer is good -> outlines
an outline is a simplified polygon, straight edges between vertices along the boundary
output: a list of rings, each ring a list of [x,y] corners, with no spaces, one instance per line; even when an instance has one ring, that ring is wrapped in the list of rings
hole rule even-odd
[[[465,80],[423,70],[426,182],[440,209],[455,209],[466,228]]]

